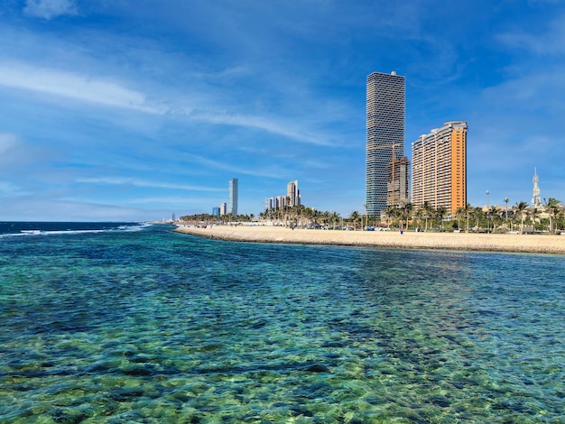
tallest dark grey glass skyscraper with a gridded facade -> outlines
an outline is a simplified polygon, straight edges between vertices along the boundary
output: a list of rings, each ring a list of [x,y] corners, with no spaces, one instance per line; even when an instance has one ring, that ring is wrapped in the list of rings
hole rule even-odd
[[[366,208],[380,215],[387,206],[389,165],[404,156],[404,77],[373,72],[366,78]]]

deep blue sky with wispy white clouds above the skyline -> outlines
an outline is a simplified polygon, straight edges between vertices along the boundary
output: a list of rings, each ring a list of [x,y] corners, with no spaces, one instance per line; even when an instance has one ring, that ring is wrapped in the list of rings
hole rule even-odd
[[[366,76],[406,78],[406,150],[468,121],[468,201],[565,201],[565,2],[4,0],[0,220],[239,212],[299,180],[365,203]]]

